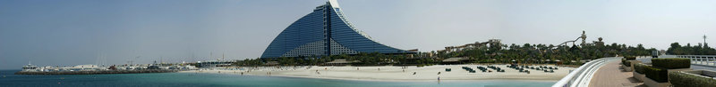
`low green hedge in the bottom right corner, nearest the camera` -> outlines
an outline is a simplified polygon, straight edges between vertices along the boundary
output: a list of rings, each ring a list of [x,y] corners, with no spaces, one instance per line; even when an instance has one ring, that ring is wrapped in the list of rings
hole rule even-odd
[[[669,82],[674,87],[716,87],[716,79],[689,75],[685,72],[671,72],[669,78]]]

